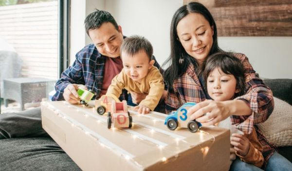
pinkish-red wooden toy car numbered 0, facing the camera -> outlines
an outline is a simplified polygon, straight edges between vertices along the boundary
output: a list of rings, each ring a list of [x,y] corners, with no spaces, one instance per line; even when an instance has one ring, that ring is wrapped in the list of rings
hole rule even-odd
[[[111,128],[111,124],[114,128],[131,128],[132,116],[128,112],[127,101],[111,102],[111,112],[108,114],[108,128]]]

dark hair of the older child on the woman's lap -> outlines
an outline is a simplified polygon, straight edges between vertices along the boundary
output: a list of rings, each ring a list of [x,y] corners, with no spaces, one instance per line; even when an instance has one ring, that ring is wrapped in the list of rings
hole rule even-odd
[[[219,68],[223,73],[233,75],[235,77],[236,89],[239,90],[239,92],[236,93],[235,97],[244,95],[244,68],[241,61],[237,57],[234,57],[232,53],[215,53],[204,61],[203,66],[203,78],[205,81],[205,85],[207,85],[208,76],[214,71],[214,69]]]

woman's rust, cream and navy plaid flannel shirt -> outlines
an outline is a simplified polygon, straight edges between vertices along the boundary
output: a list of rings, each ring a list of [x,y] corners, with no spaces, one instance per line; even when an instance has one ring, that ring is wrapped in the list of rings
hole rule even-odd
[[[248,116],[231,115],[232,124],[236,125],[238,130],[247,134],[252,133],[252,129],[255,127],[257,138],[263,146],[263,156],[265,158],[263,167],[265,167],[276,147],[267,141],[256,124],[264,122],[272,114],[274,110],[273,93],[259,78],[245,55],[234,55],[243,63],[246,82],[245,95],[239,96],[236,99],[246,102],[253,112]],[[206,98],[200,80],[196,75],[195,68],[190,64],[186,72],[174,81],[173,90],[168,91],[165,99],[165,111],[166,113],[170,113],[173,110],[177,110],[186,102],[199,103]]]

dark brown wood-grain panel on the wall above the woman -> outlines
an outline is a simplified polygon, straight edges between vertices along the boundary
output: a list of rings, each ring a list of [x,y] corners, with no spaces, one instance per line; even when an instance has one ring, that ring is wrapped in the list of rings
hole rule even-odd
[[[191,1],[210,10],[218,36],[292,36],[292,0]]]

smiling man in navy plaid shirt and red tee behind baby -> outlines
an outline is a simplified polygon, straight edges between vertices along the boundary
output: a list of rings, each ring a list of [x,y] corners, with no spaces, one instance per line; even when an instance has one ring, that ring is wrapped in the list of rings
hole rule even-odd
[[[73,65],[62,73],[61,79],[56,83],[53,100],[65,99],[73,104],[78,103],[76,90],[84,85],[96,92],[96,98],[99,98],[106,94],[112,78],[123,69],[120,58],[120,46],[124,39],[122,28],[110,13],[96,10],[86,17],[84,23],[93,44],[79,51]],[[160,68],[156,61],[154,66]],[[126,91],[123,91],[120,98],[133,105]],[[141,101],[140,98],[137,101]]]

